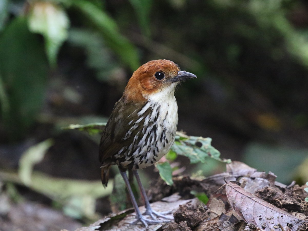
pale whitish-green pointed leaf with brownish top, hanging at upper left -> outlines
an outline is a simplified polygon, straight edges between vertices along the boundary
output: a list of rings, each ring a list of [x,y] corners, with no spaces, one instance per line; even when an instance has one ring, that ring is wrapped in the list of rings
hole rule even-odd
[[[51,66],[55,67],[58,51],[68,37],[69,19],[66,12],[52,2],[33,2],[28,23],[30,31],[42,34]]]

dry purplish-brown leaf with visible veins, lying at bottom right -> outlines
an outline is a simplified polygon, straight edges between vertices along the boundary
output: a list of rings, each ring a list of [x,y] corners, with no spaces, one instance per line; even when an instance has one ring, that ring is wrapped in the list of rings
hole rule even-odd
[[[226,182],[226,195],[231,207],[245,222],[265,231],[296,231],[305,222],[229,181]]]

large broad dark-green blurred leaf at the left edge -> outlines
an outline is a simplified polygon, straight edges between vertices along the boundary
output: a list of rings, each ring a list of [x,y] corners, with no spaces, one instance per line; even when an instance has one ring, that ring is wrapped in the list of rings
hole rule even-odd
[[[2,114],[2,118],[14,139],[24,134],[40,111],[47,72],[48,63],[39,38],[28,30],[26,18],[14,18],[0,35],[1,91],[9,105],[9,116],[3,118]],[[3,101],[3,95],[1,98]]]

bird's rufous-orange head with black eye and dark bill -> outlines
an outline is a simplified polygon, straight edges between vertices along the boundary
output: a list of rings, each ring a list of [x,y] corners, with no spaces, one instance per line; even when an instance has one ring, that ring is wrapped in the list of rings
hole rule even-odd
[[[152,60],[134,71],[123,97],[126,103],[146,102],[149,97],[158,93],[173,94],[180,81],[192,78],[197,76],[180,71],[180,67],[170,60]]]

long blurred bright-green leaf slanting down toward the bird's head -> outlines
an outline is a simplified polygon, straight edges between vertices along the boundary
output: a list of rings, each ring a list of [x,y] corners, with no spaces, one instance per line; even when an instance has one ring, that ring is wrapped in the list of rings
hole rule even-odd
[[[136,47],[120,34],[116,22],[106,12],[95,4],[84,0],[74,0],[72,4],[103,34],[108,45],[122,62],[127,64],[132,71],[140,66]]]

